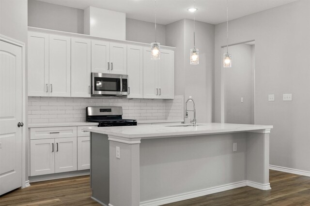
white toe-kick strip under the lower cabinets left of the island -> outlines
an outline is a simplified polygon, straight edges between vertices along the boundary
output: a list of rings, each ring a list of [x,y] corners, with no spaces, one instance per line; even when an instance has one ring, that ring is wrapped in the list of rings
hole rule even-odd
[[[39,181],[46,181],[51,179],[60,179],[66,177],[78,177],[83,175],[89,175],[90,170],[78,170],[72,172],[63,172],[63,173],[54,173],[48,175],[38,175],[38,176],[31,176],[29,177],[30,182],[39,182]]]

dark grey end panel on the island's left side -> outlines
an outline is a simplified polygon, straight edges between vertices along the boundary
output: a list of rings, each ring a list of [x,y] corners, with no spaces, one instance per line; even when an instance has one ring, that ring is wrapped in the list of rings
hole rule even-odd
[[[109,205],[109,140],[108,135],[91,132],[92,197]]]

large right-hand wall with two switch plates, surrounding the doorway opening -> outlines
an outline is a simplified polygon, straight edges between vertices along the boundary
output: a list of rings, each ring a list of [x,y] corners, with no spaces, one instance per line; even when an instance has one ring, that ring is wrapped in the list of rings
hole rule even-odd
[[[299,0],[229,22],[229,44],[255,40],[256,124],[273,125],[270,164],[310,172],[310,1]],[[221,117],[220,47],[226,24],[215,31],[215,120]],[[233,55],[233,54],[232,54]],[[292,93],[292,102],[282,94]],[[275,94],[275,102],[268,102]]]

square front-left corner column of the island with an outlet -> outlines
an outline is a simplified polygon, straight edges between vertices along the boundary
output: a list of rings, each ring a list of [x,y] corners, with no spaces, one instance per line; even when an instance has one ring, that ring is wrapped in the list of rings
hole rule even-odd
[[[120,147],[120,159],[116,158]],[[110,204],[109,206],[140,205],[140,144],[109,141]]]

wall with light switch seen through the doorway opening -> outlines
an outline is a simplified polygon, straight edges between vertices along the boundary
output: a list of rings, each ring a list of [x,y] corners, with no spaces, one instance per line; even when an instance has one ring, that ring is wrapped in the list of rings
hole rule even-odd
[[[229,47],[232,68],[223,69],[225,123],[254,124],[254,45]],[[222,48],[226,53],[226,47]],[[241,102],[243,98],[243,103]]]

